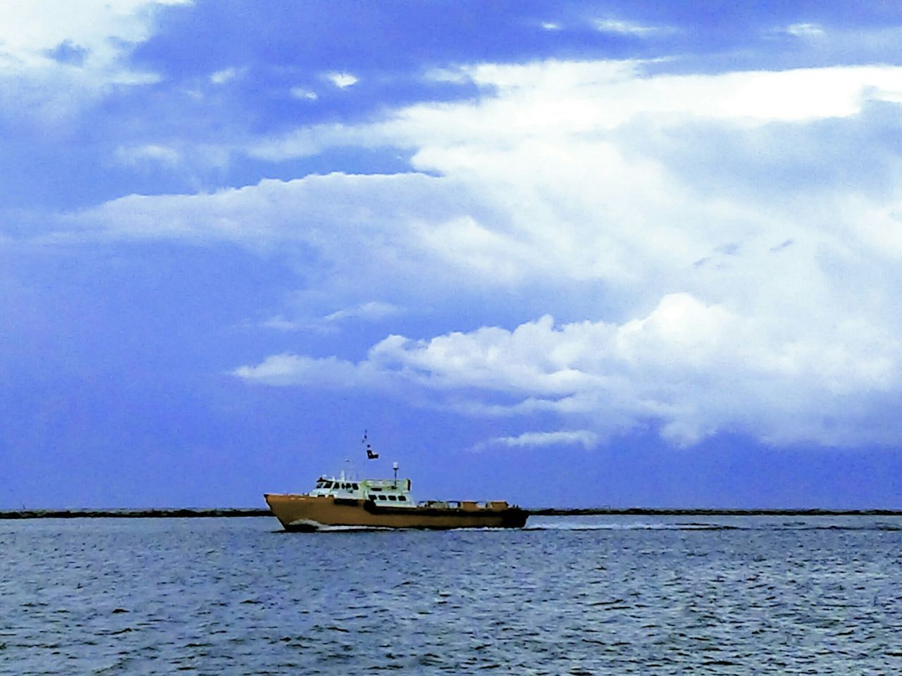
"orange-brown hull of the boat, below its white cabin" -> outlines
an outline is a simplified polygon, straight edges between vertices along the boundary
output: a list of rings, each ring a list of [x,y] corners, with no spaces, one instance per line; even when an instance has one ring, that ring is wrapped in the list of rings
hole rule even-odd
[[[267,493],[272,514],[287,531],[336,528],[522,528],[518,507],[382,507],[370,500]]]

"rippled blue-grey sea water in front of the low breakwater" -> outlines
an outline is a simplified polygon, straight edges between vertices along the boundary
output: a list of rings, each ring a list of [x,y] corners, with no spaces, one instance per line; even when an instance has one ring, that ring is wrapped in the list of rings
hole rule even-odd
[[[902,517],[0,521],[0,673],[902,673]]]

